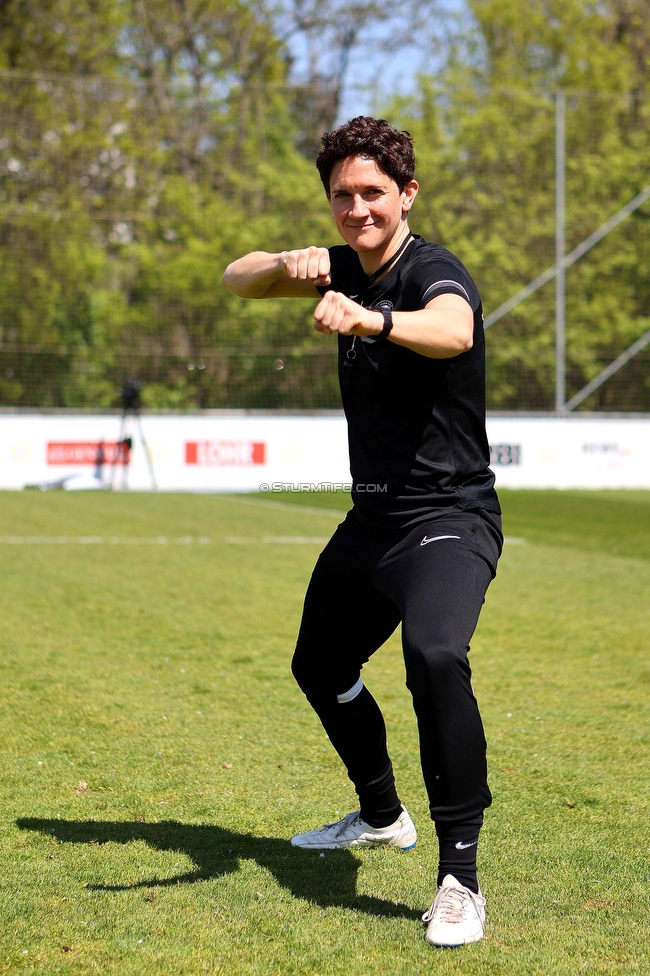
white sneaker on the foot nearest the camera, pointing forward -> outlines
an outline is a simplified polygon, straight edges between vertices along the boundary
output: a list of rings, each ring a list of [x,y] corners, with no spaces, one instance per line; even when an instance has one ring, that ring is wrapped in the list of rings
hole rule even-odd
[[[438,888],[436,900],[422,916],[427,926],[427,942],[435,946],[459,946],[480,942],[485,931],[485,898],[447,874]]]

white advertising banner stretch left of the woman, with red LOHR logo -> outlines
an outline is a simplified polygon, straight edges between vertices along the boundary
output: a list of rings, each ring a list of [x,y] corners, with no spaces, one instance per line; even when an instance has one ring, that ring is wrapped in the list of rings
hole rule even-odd
[[[150,489],[141,432],[155,485],[163,491],[252,491],[273,482],[350,480],[345,422],[339,416],[149,414],[141,423],[129,416],[122,431],[119,415],[4,414],[0,487],[82,474],[90,482],[98,474],[115,488]],[[64,485],[74,486],[74,481]]]

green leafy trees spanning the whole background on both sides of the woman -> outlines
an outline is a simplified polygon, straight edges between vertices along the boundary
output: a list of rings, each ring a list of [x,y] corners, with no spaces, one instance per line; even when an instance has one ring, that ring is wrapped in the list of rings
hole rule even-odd
[[[357,34],[370,9],[350,12]],[[334,8],[307,13],[292,16],[312,46],[321,22],[338,36]],[[439,73],[386,111],[416,140],[414,229],[463,258],[489,312],[554,262],[559,87],[568,249],[647,183],[650,22],[641,0],[469,13]],[[0,402],[106,406],[126,371],[148,380],[149,406],[337,404],[322,371],[281,389],[228,358],[332,359],[310,302],[242,302],[220,284],[249,250],[336,240],[300,151],[334,96],[293,84],[276,15],[244,0],[0,4]],[[650,324],[647,214],[568,271],[569,395]],[[488,350],[490,407],[552,406],[552,284]],[[650,409],[644,361],[584,407]]]

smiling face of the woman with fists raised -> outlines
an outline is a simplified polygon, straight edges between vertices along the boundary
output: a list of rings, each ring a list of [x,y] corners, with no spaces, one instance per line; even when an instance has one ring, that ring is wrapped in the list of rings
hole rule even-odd
[[[396,250],[417,192],[415,180],[400,192],[374,159],[348,156],[334,164],[329,192],[332,215],[339,234],[358,252],[366,271]]]

